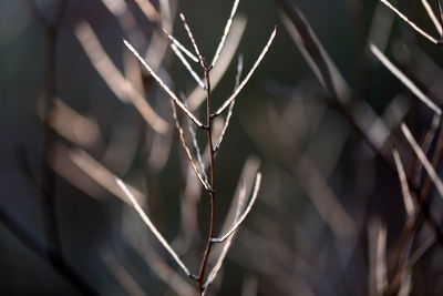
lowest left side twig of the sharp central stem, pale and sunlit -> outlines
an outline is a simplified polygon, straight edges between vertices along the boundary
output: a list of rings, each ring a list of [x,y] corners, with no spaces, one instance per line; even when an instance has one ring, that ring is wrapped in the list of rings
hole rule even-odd
[[[126,184],[120,180],[119,177],[115,177],[115,182],[117,185],[124,191],[126,196],[130,198],[132,205],[134,206],[135,211],[138,213],[140,217],[143,220],[143,222],[146,224],[146,226],[150,228],[150,231],[155,235],[155,237],[158,239],[158,242],[163,245],[164,248],[171,254],[171,256],[175,259],[175,262],[178,264],[178,266],[183,269],[183,272],[187,276],[192,276],[189,273],[189,269],[186,267],[186,265],[182,262],[182,259],[178,257],[177,253],[171,247],[171,245],[166,242],[166,239],[163,237],[163,235],[157,231],[155,225],[152,223],[150,217],[146,215],[146,213],[143,211],[143,208],[140,206],[138,202],[135,200],[134,195],[130,191],[130,188],[126,186]]]

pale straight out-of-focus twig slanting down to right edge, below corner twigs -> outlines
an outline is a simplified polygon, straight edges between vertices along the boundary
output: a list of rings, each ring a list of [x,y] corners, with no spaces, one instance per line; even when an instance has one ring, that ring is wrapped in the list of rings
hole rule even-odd
[[[437,115],[442,114],[442,110],[431,101],[419,88],[403,74],[374,44],[370,44],[372,53],[382,64],[391,71],[416,98],[419,98],[426,106],[434,111]]]

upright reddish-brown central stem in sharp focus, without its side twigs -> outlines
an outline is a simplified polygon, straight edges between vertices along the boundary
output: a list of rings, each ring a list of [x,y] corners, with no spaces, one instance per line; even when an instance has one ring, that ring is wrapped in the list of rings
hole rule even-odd
[[[210,224],[209,224],[209,234],[206,244],[205,254],[202,259],[202,265],[198,272],[197,284],[198,284],[198,295],[202,295],[205,290],[205,272],[208,264],[208,258],[210,251],[213,248],[213,242],[210,238],[215,236],[215,214],[216,214],[216,200],[215,200],[215,152],[213,144],[213,118],[210,116],[210,79],[209,71],[210,69],[204,63],[205,69],[205,81],[207,85],[207,98],[206,98],[206,124],[207,124],[207,141],[209,144],[209,172],[210,172],[210,188],[209,197],[210,197]]]

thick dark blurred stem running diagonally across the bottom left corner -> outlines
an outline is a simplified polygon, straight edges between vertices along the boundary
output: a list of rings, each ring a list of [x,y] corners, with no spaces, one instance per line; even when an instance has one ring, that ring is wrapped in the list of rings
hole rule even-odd
[[[13,235],[39,257],[48,262],[62,277],[64,277],[82,295],[99,295],[93,286],[72,268],[69,263],[52,247],[47,246],[29,232],[27,227],[0,205],[0,221]]]

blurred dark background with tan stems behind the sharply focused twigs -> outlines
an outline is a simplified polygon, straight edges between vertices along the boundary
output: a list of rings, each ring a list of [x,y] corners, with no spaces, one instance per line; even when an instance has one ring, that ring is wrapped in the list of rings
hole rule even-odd
[[[437,38],[440,19],[425,9],[437,16],[435,2],[392,4]],[[208,195],[167,94],[122,38],[206,121],[204,92],[162,28],[192,49],[183,12],[210,61],[231,6],[0,0],[1,295],[195,294],[114,181],[131,184],[197,273]],[[400,127],[405,122],[439,172],[440,116],[371,44],[436,105],[441,48],[379,1],[241,0],[212,72],[213,108],[233,92],[238,57],[244,78],[276,24],[217,154],[216,233],[233,223],[231,202],[241,188],[250,193],[258,170],[261,187],[207,294],[441,295],[442,201]],[[188,121],[177,112],[192,147]],[[205,133],[196,133],[206,162]],[[402,194],[393,149],[410,194]]]

